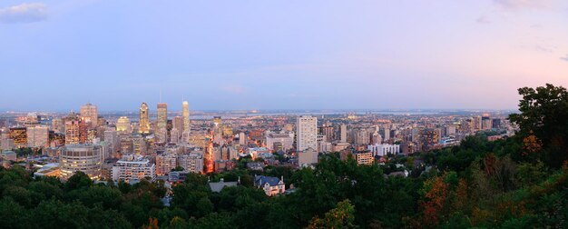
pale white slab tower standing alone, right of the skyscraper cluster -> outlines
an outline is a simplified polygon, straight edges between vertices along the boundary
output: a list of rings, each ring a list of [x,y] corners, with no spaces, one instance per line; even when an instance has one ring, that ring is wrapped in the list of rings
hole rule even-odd
[[[318,118],[310,115],[298,117],[296,123],[296,150],[304,151],[308,148],[318,150]]]

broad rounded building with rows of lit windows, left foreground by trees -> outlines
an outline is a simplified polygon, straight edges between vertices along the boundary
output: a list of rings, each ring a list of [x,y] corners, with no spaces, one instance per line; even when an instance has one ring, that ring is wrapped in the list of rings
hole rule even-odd
[[[91,179],[101,175],[103,148],[96,144],[68,144],[59,155],[61,175],[67,180],[75,172],[81,171]]]

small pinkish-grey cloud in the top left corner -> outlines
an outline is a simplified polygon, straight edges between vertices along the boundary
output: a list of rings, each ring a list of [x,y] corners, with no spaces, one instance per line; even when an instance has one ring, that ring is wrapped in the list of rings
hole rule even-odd
[[[47,6],[29,3],[0,8],[0,23],[34,23],[47,19]]]

